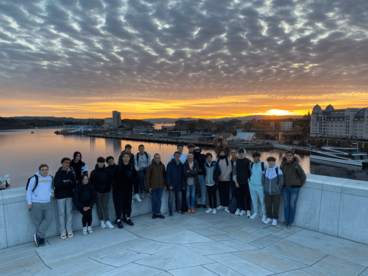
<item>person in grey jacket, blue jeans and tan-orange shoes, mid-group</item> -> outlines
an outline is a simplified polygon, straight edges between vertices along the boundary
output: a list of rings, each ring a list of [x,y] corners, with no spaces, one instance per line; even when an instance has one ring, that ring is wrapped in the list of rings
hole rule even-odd
[[[186,201],[188,205],[188,213],[195,213],[195,196],[196,191],[199,197],[201,197],[201,189],[199,187],[198,181],[199,165],[197,160],[194,160],[194,155],[189,153],[187,156],[187,161],[184,163],[183,173],[185,177],[185,187],[186,187]]]

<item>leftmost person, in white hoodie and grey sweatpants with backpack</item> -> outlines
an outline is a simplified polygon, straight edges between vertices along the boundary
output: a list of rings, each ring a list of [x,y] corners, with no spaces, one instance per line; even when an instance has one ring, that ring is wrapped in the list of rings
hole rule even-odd
[[[45,245],[46,232],[54,218],[51,198],[54,197],[53,178],[49,166],[41,164],[38,172],[28,179],[27,203],[31,220],[35,226],[34,244]]]

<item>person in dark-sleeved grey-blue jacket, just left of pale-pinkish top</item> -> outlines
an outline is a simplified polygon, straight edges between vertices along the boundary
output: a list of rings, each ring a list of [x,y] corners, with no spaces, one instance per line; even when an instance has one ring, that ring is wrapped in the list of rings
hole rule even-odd
[[[220,168],[216,161],[212,159],[212,154],[206,154],[206,163],[204,164],[204,182],[206,183],[208,193],[209,208],[206,213],[216,214],[217,207],[217,185],[221,174]]]

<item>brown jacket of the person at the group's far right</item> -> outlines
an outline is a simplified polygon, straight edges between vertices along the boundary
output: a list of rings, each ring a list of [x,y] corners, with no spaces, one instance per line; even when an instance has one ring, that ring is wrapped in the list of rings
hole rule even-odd
[[[284,186],[286,188],[300,188],[307,180],[307,176],[299,163],[300,160],[296,156],[293,157],[290,163],[286,161],[285,156],[282,158],[280,169],[284,174]]]

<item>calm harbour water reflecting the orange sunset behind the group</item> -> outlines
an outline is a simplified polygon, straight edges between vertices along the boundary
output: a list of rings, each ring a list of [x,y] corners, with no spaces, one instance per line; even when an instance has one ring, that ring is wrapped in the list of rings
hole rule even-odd
[[[34,131],[34,134],[31,134]],[[60,167],[63,157],[73,157],[75,151],[80,151],[83,161],[88,165],[90,171],[95,167],[99,156],[107,157],[112,155],[115,160],[129,143],[133,147],[133,153],[138,152],[138,145],[141,143],[133,141],[93,138],[86,136],[63,136],[55,135],[54,129],[36,130],[8,130],[0,131],[0,176],[4,171],[11,177],[11,187],[24,187],[27,179],[32,176],[41,163],[50,166],[50,173],[54,175]],[[160,153],[162,162],[166,164],[171,154],[176,150],[175,145],[165,145],[157,143],[143,143],[146,151],[151,155]],[[185,150],[184,152],[186,152]],[[203,150],[211,152],[213,149]],[[252,152],[247,153],[247,157],[252,159]],[[262,160],[268,156],[274,156],[280,164],[282,151],[261,152]],[[355,170],[327,165],[310,164],[309,156],[299,156],[301,165],[306,173],[319,175],[329,175],[343,178],[367,180],[367,170]]]

